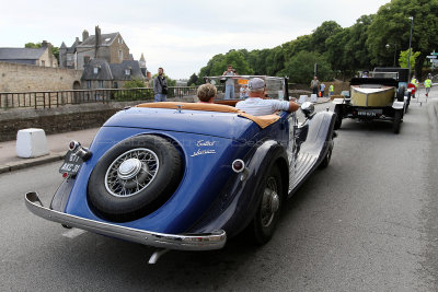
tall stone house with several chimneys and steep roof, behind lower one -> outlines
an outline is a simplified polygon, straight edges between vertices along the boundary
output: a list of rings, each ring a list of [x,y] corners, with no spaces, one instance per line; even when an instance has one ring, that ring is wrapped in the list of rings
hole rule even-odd
[[[76,38],[71,47],[65,43],[59,48],[61,68],[84,69],[92,59],[104,59],[108,63],[122,63],[129,60],[129,47],[119,33],[102,34],[99,26],[95,34],[82,32],[82,42]]]

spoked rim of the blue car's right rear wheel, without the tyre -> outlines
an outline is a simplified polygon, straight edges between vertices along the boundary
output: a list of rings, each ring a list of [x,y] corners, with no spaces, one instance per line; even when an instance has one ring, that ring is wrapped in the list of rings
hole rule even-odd
[[[262,198],[262,225],[268,227],[279,209],[278,186],[275,177],[268,177]]]

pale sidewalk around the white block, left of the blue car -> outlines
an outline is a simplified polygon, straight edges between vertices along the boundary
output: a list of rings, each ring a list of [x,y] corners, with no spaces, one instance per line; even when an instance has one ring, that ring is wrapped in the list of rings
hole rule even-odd
[[[330,102],[328,97],[319,97],[316,104]],[[99,128],[92,128],[80,131],[71,131],[56,135],[47,135],[47,144],[50,153],[36,159],[21,159],[16,156],[16,141],[0,142],[0,174],[41,165],[54,161],[60,161],[67,153],[68,144],[71,140],[89,147],[93,141]]]

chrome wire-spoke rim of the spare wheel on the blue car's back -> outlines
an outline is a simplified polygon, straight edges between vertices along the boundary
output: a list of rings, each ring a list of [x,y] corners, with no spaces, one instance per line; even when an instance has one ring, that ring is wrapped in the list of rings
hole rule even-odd
[[[160,168],[157,154],[150,149],[129,150],[110,165],[105,188],[115,197],[130,197],[146,189]]]

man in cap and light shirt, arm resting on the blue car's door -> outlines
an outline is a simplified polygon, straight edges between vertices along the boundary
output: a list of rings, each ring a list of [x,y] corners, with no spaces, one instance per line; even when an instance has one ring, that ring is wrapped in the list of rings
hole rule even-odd
[[[274,114],[277,110],[295,112],[300,106],[295,102],[266,100],[265,81],[261,78],[253,78],[247,82],[249,97],[237,103],[235,107],[253,116]]]

